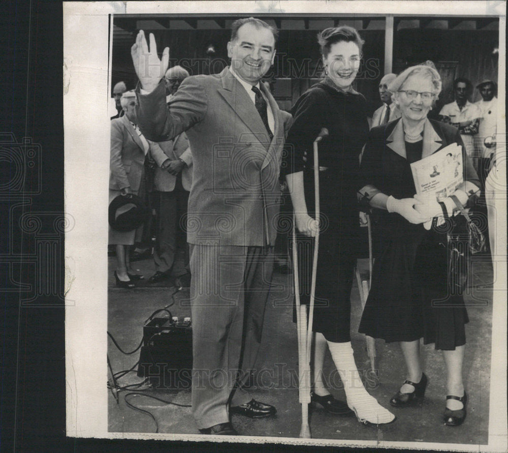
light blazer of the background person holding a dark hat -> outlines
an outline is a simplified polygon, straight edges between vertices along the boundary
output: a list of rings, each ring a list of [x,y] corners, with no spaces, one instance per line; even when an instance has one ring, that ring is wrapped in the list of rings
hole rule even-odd
[[[109,188],[130,187],[137,191],[144,174],[144,162],[143,143],[127,116],[112,119]]]

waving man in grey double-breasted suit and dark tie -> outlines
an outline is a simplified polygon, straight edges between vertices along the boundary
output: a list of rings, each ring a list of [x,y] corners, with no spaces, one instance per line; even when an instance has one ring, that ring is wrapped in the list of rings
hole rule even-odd
[[[273,65],[277,31],[262,20],[232,25],[231,66],[187,77],[166,105],[157,55],[143,31],[132,47],[140,80],[143,133],[167,140],[185,132],[193,151],[187,241],[193,320],[192,407],[203,434],[235,435],[230,413],[273,415],[243,388],[261,343],[273,271],[282,145],[290,127],[260,80]]]

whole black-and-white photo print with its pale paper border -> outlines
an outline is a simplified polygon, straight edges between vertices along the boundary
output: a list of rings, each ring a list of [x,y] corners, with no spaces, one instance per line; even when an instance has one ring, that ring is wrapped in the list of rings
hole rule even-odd
[[[505,451],[505,19],[64,2],[67,436]]]

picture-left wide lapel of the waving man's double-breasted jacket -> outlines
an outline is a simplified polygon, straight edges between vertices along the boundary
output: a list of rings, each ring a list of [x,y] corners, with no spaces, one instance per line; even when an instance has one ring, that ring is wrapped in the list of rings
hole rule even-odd
[[[243,86],[231,74],[229,67],[221,73],[221,79],[223,87],[218,89],[220,96],[225,99],[265,148],[268,148],[270,143],[267,141],[268,134],[261,116]]]

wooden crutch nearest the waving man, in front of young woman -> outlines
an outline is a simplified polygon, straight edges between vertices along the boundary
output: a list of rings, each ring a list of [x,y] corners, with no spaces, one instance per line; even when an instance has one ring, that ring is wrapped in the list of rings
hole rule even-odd
[[[317,153],[317,143],[328,135],[328,130],[323,128],[313,143],[314,151],[314,202],[315,219],[320,219],[320,200],[319,200],[319,159]],[[300,304],[300,285],[298,280],[298,252],[296,243],[295,215],[293,214],[293,275],[295,282],[295,304],[296,304],[296,323],[298,334],[298,371],[299,371],[299,402],[302,405],[302,426],[300,437],[310,438],[309,427],[309,404],[310,404],[310,346],[312,343],[312,321],[314,314],[314,295],[316,286],[317,270],[317,252],[319,250],[319,228],[314,238],[314,255],[312,260],[312,280],[310,285],[310,303],[309,320],[307,325],[307,307]]]

